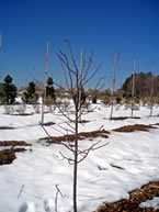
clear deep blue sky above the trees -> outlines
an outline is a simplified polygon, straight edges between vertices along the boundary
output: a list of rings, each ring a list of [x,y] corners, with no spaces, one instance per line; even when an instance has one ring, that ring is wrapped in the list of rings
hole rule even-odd
[[[115,53],[121,55],[117,83],[132,74],[133,58],[136,71],[149,71],[156,62],[159,75],[158,0],[0,0],[0,71],[20,86],[43,78],[47,42],[48,72],[63,82],[56,53],[67,52],[66,37],[77,59],[81,47],[86,56],[93,51],[93,66],[102,62],[99,77],[106,74],[106,86]]]

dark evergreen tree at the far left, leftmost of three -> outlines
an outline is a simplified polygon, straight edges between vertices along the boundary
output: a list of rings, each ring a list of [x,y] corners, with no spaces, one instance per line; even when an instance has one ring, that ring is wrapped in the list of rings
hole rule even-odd
[[[4,103],[7,104],[12,104],[15,101],[15,97],[16,97],[16,86],[14,83],[12,83],[13,78],[8,75],[4,78],[4,82],[3,82],[3,100]]]

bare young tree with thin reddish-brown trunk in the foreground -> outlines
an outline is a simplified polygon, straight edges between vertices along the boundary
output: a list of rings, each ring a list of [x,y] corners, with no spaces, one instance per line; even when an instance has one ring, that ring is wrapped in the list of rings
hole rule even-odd
[[[68,143],[64,143],[67,149],[69,149],[72,154],[72,157],[67,157],[63,153],[61,156],[63,158],[67,159],[69,164],[73,166],[73,185],[72,185],[72,201],[73,201],[73,212],[77,212],[77,181],[78,181],[78,164],[81,163],[91,150],[101,148],[104,145],[101,145],[100,142],[96,142],[92,145],[89,146],[87,149],[80,149],[79,148],[79,123],[81,120],[81,115],[86,113],[87,111],[87,104],[84,101],[82,101],[82,91],[83,89],[88,86],[88,83],[91,81],[93,77],[96,76],[101,64],[99,64],[93,71],[91,71],[92,68],[92,54],[88,58],[88,60],[83,59],[83,53],[81,51],[81,58],[80,58],[80,65],[78,66],[78,63],[75,58],[71,45],[69,40],[65,41],[69,54],[65,54],[61,51],[57,54],[60,65],[64,70],[64,76],[65,76],[65,87],[59,86],[58,83],[55,82],[56,86],[58,86],[64,92],[66,92],[70,99],[73,102],[73,114],[70,118],[66,111],[64,111],[60,107],[57,107],[61,114],[64,115],[65,123],[68,125],[67,132],[71,132],[75,135],[75,143],[73,145]],[[102,79],[102,78],[101,78]],[[101,79],[98,81],[101,82]],[[98,88],[98,86],[95,88]]]

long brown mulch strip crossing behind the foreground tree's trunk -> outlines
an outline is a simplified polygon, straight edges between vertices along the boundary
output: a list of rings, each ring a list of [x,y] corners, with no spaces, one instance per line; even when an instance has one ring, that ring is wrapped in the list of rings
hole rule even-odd
[[[81,132],[78,134],[79,140],[84,140],[84,138],[93,138],[93,137],[104,137],[107,138],[107,134],[110,132],[102,130],[102,131],[92,131],[92,132]],[[50,137],[44,137],[41,140],[46,140],[48,144],[55,144],[55,143],[60,143],[60,142],[73,142],[76,138],[75,134],[68,134],[64,136],[50,136]]]

